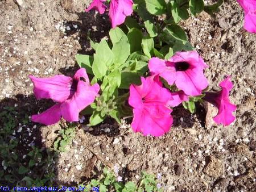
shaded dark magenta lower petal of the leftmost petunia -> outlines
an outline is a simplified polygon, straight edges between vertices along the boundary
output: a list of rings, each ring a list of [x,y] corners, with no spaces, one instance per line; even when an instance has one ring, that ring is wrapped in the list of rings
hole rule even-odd
[[[59,122],[61,118],[60,104],[56,104],[39,115],[32,115],[32,122],[46,124],[47,126]]]

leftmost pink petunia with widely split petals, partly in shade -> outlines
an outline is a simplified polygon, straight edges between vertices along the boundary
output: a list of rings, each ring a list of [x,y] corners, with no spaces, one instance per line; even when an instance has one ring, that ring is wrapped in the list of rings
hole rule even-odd
[[[34,84],[36,99],[52,99],[56,105],[39,115],[32,115],[31,120],[46,125],[59,122],[61,116],[68,122],[79,121],[79,112],[90,105],[100,86],[90,85],[86,70],[77,70],[73,78],[57,75],[49,78],[29,76]]]

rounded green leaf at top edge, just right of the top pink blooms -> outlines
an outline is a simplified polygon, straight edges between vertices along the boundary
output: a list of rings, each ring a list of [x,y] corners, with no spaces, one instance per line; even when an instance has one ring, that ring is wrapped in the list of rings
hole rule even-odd
[[[164,0],[145,0],[148,12],[153,15],[163,15],[167,12],[167,5]]]

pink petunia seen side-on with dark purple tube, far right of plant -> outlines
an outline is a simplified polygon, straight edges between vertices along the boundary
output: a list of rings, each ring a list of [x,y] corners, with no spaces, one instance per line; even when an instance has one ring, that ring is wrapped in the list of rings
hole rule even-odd
[[[237,109],[236,105],[233,105],[229,101],[229,91],[233,87],[232,82],[230,81],[230,76],[218,85],[221,87],[221,91],[216,93],[207,92],[203,99],[218,108],[218,114],[213,118],[214,122],[228,126],[236,119],[232,112]]]

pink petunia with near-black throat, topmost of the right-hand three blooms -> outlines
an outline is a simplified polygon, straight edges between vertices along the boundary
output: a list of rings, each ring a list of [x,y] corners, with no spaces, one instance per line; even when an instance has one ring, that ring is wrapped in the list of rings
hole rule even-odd
[[[159,74],[169,85],[175,85],[185,94],[196,96],[208,86],[204,68],[208,68],[196,51],[176,52],[170,60],[157,57],[148,62],[152,74]]]

